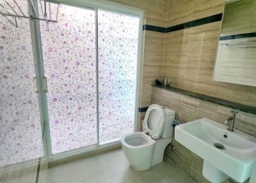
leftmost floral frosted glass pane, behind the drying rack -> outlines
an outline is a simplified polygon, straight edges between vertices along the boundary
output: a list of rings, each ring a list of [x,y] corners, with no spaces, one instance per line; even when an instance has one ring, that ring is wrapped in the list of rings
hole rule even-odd
[[[17,0],[28,15],[26,2]],[[44,155],[29,20],[17,22],[18,28],[0,15],[0,166]]]

